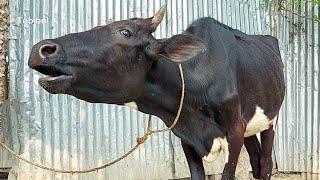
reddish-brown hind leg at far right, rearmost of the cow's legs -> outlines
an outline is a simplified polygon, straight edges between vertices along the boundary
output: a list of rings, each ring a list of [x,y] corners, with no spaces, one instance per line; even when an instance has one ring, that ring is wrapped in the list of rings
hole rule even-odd
[[[261,156],[260,156],[260,178],[269,180],[272,175],[272,147],[274,130],[271,126],[268,130],[261,132]]]

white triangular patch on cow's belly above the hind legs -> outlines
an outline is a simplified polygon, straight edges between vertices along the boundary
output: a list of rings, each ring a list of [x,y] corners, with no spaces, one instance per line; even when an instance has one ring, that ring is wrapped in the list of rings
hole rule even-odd
[[[264,110],[259,106],[256,107],[256,112],[254,113],[252,119],[247,124],[246,131],[244,132],[244,137],[249,137],[262,132],[270,128],[271,125],[274,125],[276,117],[270,120],[265,114]],[[275,127],[275,125],[273,126]]]

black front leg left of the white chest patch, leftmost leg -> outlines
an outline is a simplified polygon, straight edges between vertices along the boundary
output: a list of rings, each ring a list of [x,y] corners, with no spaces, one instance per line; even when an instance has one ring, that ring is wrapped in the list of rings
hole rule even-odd
[[[202,163],[202,158],[199,157],[197,152],[194,150],[192,146],[181,141],[181,145],[184,151],[184,154],[187,158],[191,179],[192,180],[204,180],[205,173]]]

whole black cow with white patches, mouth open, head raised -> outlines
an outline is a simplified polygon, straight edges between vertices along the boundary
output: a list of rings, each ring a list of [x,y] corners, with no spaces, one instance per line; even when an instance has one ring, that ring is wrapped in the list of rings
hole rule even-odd
[[[162,7],[151,18],[43,40],[33,46],[28,64],[47,75],[39,84],[50,93],[94,103],[131,102],[169,126],[181,96],[182,63],[185,101],[173,132],[181,138],[192,179],[204,179],[202,160],[211,162],[220,151],[226,162],[222,179],[234,179],[243,144],[254,177],[270,179],[285,91],[277,39],[247,35],[212,18],[155,39],[151,33],[164,13]]]

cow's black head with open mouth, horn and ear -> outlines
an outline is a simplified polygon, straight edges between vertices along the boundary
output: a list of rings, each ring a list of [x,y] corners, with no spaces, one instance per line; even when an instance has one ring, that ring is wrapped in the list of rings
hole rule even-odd
[[[143,93],[154,61],[166,57],[182,62],[205,49],[198,38],[187,33],[166,40],[152,36],[165,8],[151,18],[116,21],[43,40],[33,46],[28,64],[47,75],[39,84],[50,93],[70,94],[89,102],[133,101]]]

